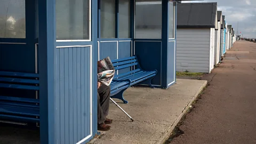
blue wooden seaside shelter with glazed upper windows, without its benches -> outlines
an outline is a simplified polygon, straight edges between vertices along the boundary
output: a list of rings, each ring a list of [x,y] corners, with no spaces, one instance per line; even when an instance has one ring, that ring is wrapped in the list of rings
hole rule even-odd
[[[39,100],[41,143],[88,142],[97,134],[97,60],[137,55],[157,69],[156,87],[175,83],[177,3],[1,1],[0,71],[37,74],[39,89],[0,95]]]

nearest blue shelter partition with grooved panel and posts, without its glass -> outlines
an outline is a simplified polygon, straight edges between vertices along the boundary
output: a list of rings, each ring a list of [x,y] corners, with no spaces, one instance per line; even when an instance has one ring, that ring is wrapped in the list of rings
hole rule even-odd
[[[55,5],[38,1],[41,143],[85,143],[97,134],[98,2],[86,42],[56,41]]]

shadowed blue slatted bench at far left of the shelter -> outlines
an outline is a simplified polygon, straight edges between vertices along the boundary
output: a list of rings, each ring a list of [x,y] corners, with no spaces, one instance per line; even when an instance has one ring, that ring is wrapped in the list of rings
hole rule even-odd
[[[0,71],[0,87],[39,91],[38,74]],[[10,97],[0,95],[0,117],[4,120],[39,123],[39,99],[25,98],[26,95]]]

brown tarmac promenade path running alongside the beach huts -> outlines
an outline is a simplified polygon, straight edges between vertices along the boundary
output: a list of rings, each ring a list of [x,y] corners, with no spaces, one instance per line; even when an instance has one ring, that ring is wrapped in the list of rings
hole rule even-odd
[[[256,143],[256,43],[237,41],[171,143]]]

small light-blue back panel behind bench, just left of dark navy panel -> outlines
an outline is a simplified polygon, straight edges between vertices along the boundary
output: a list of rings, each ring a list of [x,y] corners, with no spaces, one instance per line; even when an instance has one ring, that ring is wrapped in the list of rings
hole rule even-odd
[[[131,41],[130,42],[118,42],[118,59],[131,57]],[[118,74],[130,71],[131,68],[125,68],[118,70]]]

